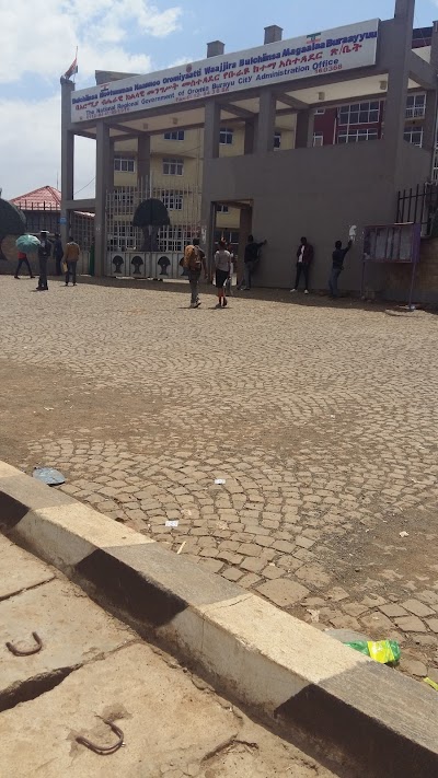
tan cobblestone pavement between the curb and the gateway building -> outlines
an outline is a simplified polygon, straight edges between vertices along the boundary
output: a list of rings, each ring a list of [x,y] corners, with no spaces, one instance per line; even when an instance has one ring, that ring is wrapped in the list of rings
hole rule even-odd
[[[0,280],[1,458],[55,465],[116,521],[434,673],[436,315],[31,283]]]

